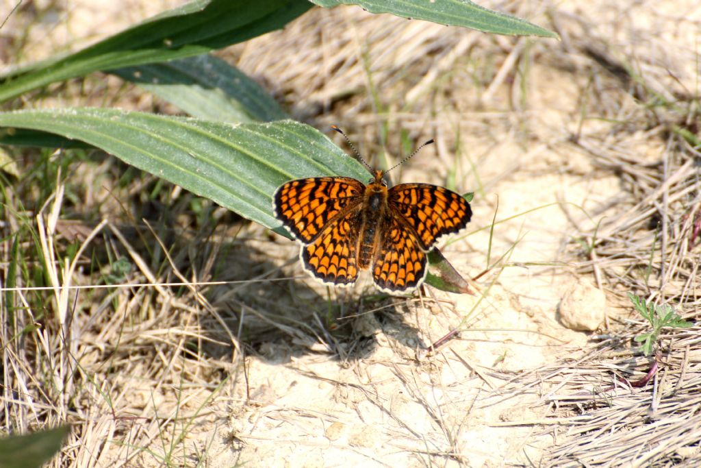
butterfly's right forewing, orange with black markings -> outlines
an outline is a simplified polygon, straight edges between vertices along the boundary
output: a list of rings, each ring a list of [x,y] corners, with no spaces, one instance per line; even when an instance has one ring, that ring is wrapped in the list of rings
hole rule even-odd
[[[396,185],[389,190],[388,203],[414,228],[426,251],[440,236],[463,229],[472,217],[470,203],[437,185]]]

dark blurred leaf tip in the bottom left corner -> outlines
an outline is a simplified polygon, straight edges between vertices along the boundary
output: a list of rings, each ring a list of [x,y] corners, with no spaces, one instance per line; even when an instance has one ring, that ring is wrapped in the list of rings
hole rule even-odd
[[[39,468],[61,449],[69,425],[0,439],[0,468]]]

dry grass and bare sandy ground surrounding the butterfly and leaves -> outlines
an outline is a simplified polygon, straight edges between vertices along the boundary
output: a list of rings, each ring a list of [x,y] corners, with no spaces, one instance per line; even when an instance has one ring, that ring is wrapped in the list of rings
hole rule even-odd
[[[561,42],[348,7],[222,53],[363,154],[434,136],[436,156],[395,178],[475,190],[474,227],[445,255],[479,272],[491,246],[518,265],[484,276],[483,298],[326,290],[293,243],[108,156],[15,153],[25,177],[5,184],[0,245],[4,282],[21,288],[0,296],[5,431],[71,422],[53,464],[76,467],[701,464],[698,327],[665,330],[648,385],[617,380],[652,365],[632,342],[646,324],[628,292],[699,319],[701,13],[531,5],[511,11]],[[151,107],[111,79],[62,92]],[[490,234],[495,211],[515,218]],[[556,320],[581,276],[608,296],[597,335]]]

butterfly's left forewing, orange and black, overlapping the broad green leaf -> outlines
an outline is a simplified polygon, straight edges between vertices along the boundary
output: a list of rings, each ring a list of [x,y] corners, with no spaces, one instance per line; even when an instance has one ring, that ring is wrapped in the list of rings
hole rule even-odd
[[[273,195],[275,217],[296,239],[309,243],[346,208],[360,203],[364,190],[353,178],[292,180]]]

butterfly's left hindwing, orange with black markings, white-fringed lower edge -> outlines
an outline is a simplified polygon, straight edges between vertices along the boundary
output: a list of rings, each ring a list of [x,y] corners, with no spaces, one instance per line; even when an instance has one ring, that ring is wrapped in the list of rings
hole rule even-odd
[[[324,283],[346,285],[358,279],[358,210],[325,227],[313,243],[301,249],[304,269]]]

